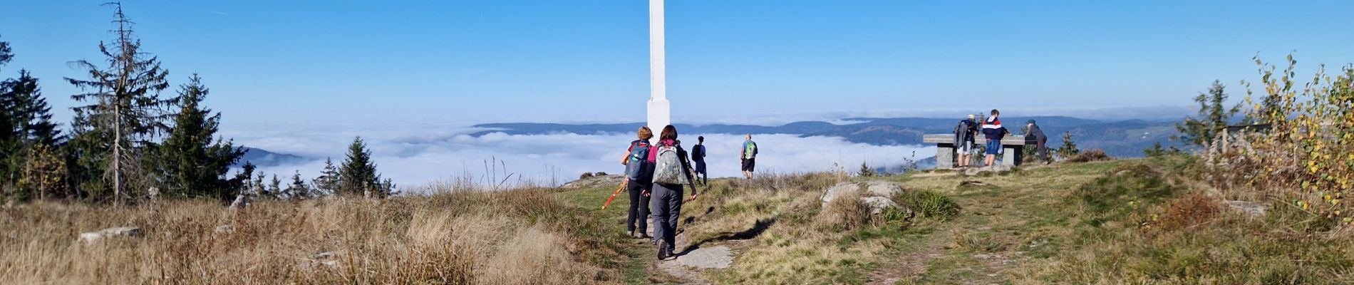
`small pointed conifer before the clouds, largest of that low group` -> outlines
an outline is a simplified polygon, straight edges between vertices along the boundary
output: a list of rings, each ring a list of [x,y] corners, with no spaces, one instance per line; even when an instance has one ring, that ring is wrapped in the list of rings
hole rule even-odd
[[[362,142],[362,136],[353,138],[352,145],[348,145],[348,158],[338,167],[340,195],[370,193],[372,197],[386,197],[394,193],[394,184],[389,180],[382,181],[376,173],[376,163],[371,161],[371,151]]]

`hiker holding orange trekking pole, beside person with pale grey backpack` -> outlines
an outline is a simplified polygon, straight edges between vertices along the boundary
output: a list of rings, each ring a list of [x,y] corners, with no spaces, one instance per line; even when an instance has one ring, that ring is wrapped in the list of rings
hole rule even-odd
[[[630,142],[626,157],[620,163],[626,165],[626,192],[630,193],[630,212],[626,216],[626,230],[630,238],[651,239],[649,236],[649,190],[653,189],[654,154],[650,154],[649,139],[654,138],[654,131],[649,127],[639,127],[639,139]],[[636,234],[635,230],[639,230]]]

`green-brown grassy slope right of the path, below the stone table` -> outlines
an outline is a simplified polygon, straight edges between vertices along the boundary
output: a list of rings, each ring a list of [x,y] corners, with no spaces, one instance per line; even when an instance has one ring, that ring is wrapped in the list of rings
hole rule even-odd
[[[1197,196],[1186,162],[1132,159],[1053,165],[1003,176],[921,173],[886,177],[963,207],[948,220],[914,219],[842,230],[822,223],[818,195],[842,178],[720,180],[684,207],[692,243],[726,244],[734,267],[720,284],[1349,284],[1347,230],[1328,230],[1278,204],[1266,217]],[[857,178],[858,180],[858,178]],[[964,181],[980,181],[964,185]],[[600,205],[613,189],[562,192]],[[620,234],[626,199],[593,211]],[[630,244],[627,281],[663,281],[651,250]],[[638,253],[638,255],[636,255]],[[640,265],[645,263],[645,265]]]

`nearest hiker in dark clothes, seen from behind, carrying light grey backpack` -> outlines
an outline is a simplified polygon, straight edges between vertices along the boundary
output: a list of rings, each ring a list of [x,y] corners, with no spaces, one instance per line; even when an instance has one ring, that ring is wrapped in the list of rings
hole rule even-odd
[[[686,159],[686,150],[681,147],[681,140],[677,140],[677,127],[672,124],[663,127],[663,131],[658,135],[658,147],[674,146],[677,147],[677,157],[681,161],[682,174],[686,181],[695,181],[691,176],[691,162]],[[658,243],[658,259],[676,258],[673,250],[677,249],[674,244],[677,242],[677,219],[681,217],[681,204],[682,204],[682,185],[681,184],[653,184],[653,213],[654,213],[654,238],[659,240]],[[696,189],[691,189],[691,200],[696,200]]]

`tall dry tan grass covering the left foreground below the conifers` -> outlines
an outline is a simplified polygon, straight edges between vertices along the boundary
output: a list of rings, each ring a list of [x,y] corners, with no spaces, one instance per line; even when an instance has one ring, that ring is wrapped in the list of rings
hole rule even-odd
[[[233,231],[217,234],[218,226]],[[141,227],[145,236],[76,242]],[[0,284],[598,284],[617,254],[542,189],[390,200],[0,209]],[[332,253],[332,257],[317,254]]]

